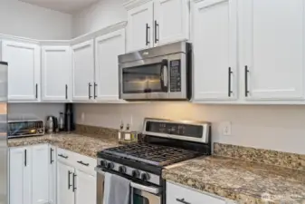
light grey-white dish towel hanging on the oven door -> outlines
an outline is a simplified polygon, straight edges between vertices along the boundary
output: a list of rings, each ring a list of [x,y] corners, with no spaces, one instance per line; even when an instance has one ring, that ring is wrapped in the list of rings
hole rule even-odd
[[[129,204],[130,180],[105,172],[103,204]]]

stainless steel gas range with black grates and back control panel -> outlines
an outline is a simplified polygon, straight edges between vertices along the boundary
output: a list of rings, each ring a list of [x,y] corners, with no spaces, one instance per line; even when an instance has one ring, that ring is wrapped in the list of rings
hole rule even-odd
[[[145,119],[142,139],[98,153],[98,199],[103,198],[99,180],[103,172],[109,172],[130,180],[130,204],[165,204],[162,170],[176,162],[211,154],[209,122]]]

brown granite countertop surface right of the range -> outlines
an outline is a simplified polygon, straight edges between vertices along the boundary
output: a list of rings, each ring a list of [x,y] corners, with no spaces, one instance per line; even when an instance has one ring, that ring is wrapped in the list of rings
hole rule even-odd
[[[305,204],[304,170],[209,156],[169,166],[162,176],[238,203]]]

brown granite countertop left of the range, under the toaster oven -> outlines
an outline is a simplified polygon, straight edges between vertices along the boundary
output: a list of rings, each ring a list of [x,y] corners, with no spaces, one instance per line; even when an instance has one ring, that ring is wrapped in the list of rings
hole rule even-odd
[[[49,143],[67,151],[74,151],[92,158],[97,157],[97,152],[119,146],[113,137],[81,134],[51,134],[37,137],[9,139],[9,147]]]

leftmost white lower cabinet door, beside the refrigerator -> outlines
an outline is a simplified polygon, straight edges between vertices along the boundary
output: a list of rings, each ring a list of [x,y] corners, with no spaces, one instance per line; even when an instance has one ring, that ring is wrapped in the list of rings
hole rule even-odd
[[[30,158],[30,149],[10,149],[10,204],[32,204],[32,164]]]

